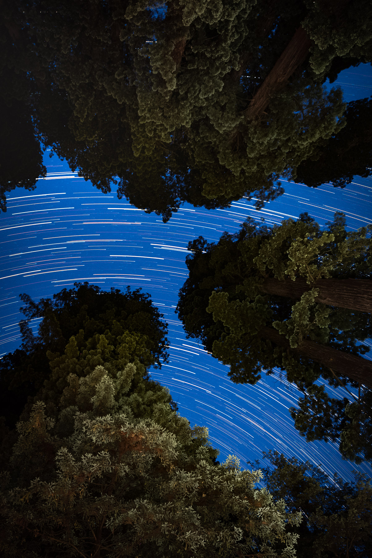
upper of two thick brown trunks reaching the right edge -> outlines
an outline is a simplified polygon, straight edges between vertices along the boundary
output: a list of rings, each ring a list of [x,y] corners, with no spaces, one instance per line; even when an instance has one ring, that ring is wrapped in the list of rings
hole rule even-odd
[[[296,281],[268,278],[261,285],[261,289],[267,294],[291,299],[300,299],[304,292],[314,287],[319,288],[316,302],[372,313],[372,281],[369,279],[319,279],[309,285],[302,277],[298,277]]]

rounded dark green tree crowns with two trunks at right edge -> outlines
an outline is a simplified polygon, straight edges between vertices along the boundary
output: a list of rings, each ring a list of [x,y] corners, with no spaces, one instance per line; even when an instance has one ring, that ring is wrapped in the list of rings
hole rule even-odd
[[[217,244],[199,237],[177,308],[187,334],[229,365],[234,382],[285,371],[304,393],[292,410],[298,430],[341,435],[340,451],[353,459],[372,459],[372,362],[361,343],[372,336],[371,230],[347,232],[340,213],[320,230],[305,213],[273,229],[248,219]],[[361,387],[356,406],[329,398],[319,378]]]

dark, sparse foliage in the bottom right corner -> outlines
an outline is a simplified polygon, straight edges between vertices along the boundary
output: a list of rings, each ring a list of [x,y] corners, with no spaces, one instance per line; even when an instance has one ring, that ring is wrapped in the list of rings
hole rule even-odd
[[[267,489],[285,500],[288,511],[303,514],[295,528],[297,558],[372,556],[370,480],[356,472],[350,483],[336,473],[331,479],[309,461],[288,459],[277,451],[264,451],[263,459],[270,463],[261,469]]]

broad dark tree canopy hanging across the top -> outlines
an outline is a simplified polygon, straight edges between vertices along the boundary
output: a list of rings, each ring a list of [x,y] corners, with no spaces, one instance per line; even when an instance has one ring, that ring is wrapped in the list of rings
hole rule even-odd
[[[345,119],[341,90],[324,87],[372,60],[367,0],[3,4],[43,143],[164,220],[182,201],[260,206],[282,193],[280,175],[346,183],[344,170],[324,162],[315,177],[311,164],[345,124],[370,145],[360,111],[351,104]],[[364,147],[353,170],[369,162]]]

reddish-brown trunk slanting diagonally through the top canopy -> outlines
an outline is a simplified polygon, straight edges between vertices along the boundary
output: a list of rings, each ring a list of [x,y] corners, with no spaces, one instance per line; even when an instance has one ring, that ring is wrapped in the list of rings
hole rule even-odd
[[[303,27],[299,27],[249,103],[245,112],[246,121],[256,121],[262,116],[273,95],[282,88],[298,66],[304,62],[307,54],[309,54],[310,47],[309,36],[307,36]]]

